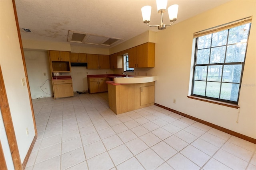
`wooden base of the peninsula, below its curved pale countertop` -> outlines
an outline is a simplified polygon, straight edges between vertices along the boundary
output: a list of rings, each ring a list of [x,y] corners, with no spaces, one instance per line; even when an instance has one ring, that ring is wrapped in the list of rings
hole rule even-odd
[[[154,82],[138,84],[108,84],[108,104],[120,114],[154,105]]]

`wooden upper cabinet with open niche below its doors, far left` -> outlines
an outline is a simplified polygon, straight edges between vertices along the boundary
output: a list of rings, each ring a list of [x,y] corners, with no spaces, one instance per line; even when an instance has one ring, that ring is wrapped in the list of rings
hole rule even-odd
[[[51,72],[71,72],[69,51],[49,51]]]

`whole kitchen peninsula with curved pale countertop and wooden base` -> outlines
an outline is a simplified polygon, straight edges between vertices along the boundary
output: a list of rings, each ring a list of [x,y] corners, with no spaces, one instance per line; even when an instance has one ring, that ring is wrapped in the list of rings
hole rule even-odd
[[[108,84],[108,103],[120,114],[154,105],[156,76],[116,77]]]

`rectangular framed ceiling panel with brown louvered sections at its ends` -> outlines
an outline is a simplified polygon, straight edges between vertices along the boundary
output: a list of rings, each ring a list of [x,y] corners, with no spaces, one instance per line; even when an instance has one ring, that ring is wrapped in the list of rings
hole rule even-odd
[[[68,42],[111,46],[120,40],[123,39],[106,37],[103,35],[96,35],[90,33],[82,33],[78,31],[68,31]]]

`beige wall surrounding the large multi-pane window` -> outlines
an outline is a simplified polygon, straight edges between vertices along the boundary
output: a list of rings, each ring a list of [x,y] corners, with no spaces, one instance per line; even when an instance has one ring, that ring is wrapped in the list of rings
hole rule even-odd
[[[256,139],[255,6],[256,1],[231,1],[158,31],[156,64],[149,70],[149,74],[157,75],[155,102]],[[240,109],[187,98],[190,93],[193,33],[248,16],[253,16],[253,21],[240,92]],[[173,99],[176,99],[176,104]]]

